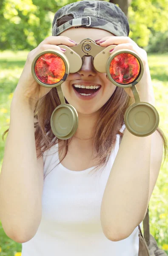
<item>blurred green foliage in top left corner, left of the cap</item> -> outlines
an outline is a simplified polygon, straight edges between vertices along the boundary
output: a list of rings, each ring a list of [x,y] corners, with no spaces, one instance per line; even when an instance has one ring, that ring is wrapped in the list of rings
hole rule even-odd
[[[62,5],[68,2],[63,0]],[[34,49],[52,34],[51,23],[60,2],[55,0],[2,0],[0,49]]]

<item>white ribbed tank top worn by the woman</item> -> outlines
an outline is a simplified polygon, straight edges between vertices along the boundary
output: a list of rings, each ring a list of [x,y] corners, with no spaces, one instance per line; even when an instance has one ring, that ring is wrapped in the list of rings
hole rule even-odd
[[[99,170],[89,174],[94,167],[84,171],[71,171],[61,163],[55,167],[58,144],[44,152],[42,219],[35,236],[22,244],[22,256],[138,256],[138,227],[128,238],[114,242],[105,237],[100,223],[103,193],[119,138],[117,134],[101,175]]]

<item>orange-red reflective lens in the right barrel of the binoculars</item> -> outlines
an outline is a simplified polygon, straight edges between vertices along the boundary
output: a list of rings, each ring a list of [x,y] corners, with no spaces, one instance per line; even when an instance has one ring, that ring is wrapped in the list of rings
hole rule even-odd
[[[140,73],[140,63],[130,53],[120,53],[110,63],[112,79],[119,84],[131,84]]]

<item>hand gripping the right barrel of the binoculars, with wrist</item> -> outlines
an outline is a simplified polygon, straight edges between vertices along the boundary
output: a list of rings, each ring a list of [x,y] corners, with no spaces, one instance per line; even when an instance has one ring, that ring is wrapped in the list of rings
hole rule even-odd
[[[100,41],[105,41],[100,43]],[[116,44],[117,46],[111,52],[113,54],[120,49],[129,49],[137,53],[140,56],[144,64],[144,73],[140,81],[136,84],[137,91],[140,96],[141,101],[149,102],[154,105],[154,90],[151,81],[150,70],[148,66],[148,57],[144,49],[140,48],[131,38],[125,36],[108,36],[101,38],[100,41],[96,43],[102,47],[108,47],[109,45]],[[125,92],[132,98],[132,103],[134,103],[134,95],[132,93],[131,87],[124,88]]]

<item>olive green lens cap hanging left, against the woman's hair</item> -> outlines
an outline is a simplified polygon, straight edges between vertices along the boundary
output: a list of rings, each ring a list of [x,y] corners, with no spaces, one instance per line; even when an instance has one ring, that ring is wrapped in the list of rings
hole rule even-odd
[[[69,104],[59,105],[54,109],[50,123],[53,134],[61,140],[67,140],[71,138],[77,130],[77,111]]]

